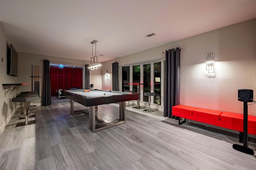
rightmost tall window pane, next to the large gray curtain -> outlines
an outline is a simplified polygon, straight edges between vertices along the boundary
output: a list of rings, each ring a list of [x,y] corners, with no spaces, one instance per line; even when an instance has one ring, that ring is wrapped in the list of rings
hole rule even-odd
[[[161,62],[154,63],[154,104],[161,105]]]

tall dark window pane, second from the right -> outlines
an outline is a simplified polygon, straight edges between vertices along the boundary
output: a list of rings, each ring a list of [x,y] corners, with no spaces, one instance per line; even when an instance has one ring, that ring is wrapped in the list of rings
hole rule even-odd
[[[150,92],[150,71],[151,64],[143,65],[143,101],[148,102],[148,96],[144,96],[144,92]]]

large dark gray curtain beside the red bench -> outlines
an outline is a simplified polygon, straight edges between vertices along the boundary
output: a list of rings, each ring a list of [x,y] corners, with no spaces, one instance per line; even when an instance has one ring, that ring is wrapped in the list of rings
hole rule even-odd
[[[180,104],[180,48],[165,53],[164,116],[172,119],[172,106]]]

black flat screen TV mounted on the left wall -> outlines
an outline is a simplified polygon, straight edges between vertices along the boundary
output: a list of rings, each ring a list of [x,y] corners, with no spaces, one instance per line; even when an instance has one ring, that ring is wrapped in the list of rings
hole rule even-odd
[[[11,76],[18,76],[18,53],[12,44],[7,56],[7,74]]]

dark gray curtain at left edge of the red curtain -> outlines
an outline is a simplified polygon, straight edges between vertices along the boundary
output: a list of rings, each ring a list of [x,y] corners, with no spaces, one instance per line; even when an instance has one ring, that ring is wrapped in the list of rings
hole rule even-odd
[[[44,60],[42,106],[49,106],[51,104],[50,62]]]

